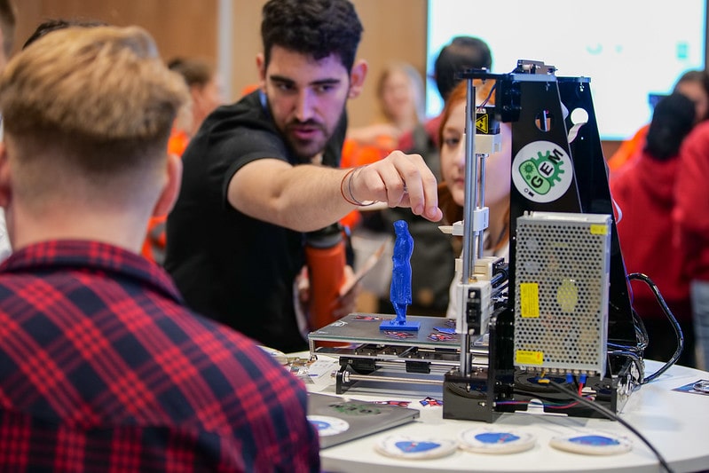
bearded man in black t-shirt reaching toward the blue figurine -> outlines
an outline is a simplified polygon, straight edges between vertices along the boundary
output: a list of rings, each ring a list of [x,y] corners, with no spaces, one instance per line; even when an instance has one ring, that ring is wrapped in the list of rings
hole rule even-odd
[[[374,201],[442,217],[420,155],[337,168],[345,104],[366,76],[366,62],[355,61],[361,32],[348,0],[270,0],[260,90],[218,108],[183,156],[166,269],[193,309],[282,351],[307,346],[296,320],[306,233]],[[354,308],[354,294],[334,317]]]

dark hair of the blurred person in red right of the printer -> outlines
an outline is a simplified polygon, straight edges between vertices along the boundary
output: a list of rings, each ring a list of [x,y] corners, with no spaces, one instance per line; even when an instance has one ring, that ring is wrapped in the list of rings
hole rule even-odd
[[[658,161],[676,156],[694,126],[694,114],[694,102],[679,92],[661,99],[652,113],[643,151]]]

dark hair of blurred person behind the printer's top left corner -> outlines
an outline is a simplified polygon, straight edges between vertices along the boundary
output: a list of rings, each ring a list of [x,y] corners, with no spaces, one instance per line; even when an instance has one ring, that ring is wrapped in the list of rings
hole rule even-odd
[[[438,93],[445,100],[460,81],[458,74],[466,69],[492,68],[490,47],[473,36],[456,36],[438,53],[434,75]]]

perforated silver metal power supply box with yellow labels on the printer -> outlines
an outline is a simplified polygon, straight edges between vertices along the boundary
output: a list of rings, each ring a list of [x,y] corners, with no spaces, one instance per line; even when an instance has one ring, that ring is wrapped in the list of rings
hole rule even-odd
[[[611,216],[529,212],[517,218],[515,366],[603,374]]]

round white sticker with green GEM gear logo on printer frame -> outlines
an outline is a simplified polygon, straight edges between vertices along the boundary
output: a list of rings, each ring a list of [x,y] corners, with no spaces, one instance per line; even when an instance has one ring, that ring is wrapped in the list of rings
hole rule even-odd
[[[546,203],[559,199],[573,178],[571,156],[550,141],[524,146],[512,162],[512,182],[530,201]]]

